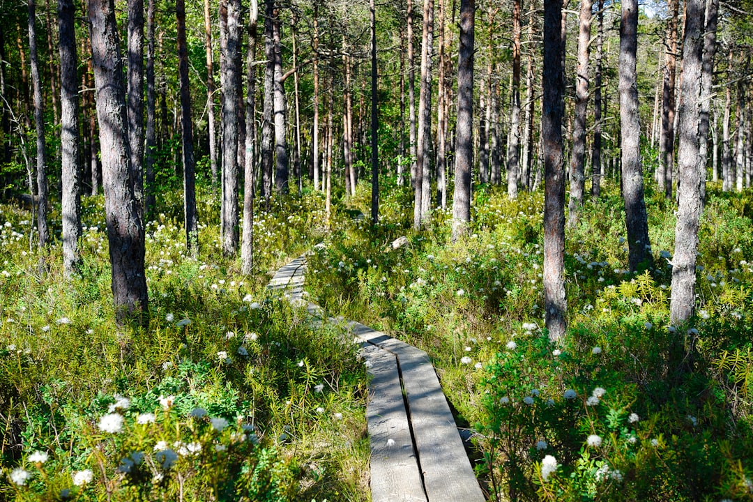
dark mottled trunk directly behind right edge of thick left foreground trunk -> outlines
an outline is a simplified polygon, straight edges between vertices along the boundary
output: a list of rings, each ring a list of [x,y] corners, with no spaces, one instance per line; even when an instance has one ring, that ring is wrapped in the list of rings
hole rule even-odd
[[[144,0],[128,0],[128,141],[130,175],[144,215]]]

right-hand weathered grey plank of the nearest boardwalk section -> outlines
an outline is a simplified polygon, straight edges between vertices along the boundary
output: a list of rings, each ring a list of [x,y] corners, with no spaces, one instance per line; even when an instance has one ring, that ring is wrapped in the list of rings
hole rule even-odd
[[[434,367],[420,356],[398,361],[429,502],[483,502]]]

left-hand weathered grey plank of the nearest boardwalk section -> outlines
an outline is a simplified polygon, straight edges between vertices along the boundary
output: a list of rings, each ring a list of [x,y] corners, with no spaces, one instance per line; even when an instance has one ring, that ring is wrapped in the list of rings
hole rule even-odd
[[[395,356],[373,345],[361,354],[371,376],[367,407],[371,500],[426,502]]]

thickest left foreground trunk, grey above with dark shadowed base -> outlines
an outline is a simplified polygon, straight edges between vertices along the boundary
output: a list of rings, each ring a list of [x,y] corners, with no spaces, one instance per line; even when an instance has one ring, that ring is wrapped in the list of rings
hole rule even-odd
[[[144,222],[130,176],[123,59],[113,0],[88,0],[115,319],[148,325]]]

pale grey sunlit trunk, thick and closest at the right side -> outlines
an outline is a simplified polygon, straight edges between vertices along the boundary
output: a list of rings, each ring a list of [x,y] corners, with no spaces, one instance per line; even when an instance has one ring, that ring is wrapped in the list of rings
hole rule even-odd
[[[695,308],[698,221],[701,214],[702,171],[700,163],[699,108],[703,65],[703,0],[686,0],[682,51],[682,84],[679,107],[679,186],[675,254],[672,257],[672,324],[691,318]]]

